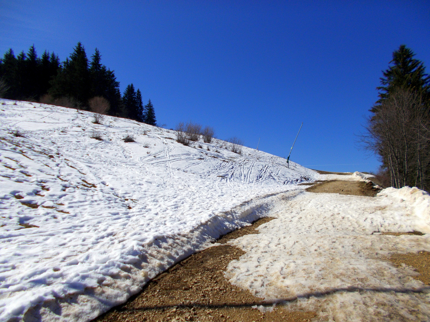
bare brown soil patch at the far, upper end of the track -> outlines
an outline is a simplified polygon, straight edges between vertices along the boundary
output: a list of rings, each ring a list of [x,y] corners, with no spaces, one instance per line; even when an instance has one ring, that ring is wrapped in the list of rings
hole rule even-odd
[[[306,191],[375,197],[380,190],[375,188],[372,182],[330,180],[316,183]]]

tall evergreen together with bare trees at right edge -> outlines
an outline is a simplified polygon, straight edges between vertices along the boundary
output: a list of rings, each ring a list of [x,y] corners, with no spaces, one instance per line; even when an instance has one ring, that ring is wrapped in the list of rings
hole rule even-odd
[[[430,77],[405,45],[383,72],[363,142],[382,161],[386,185],[430,189]]]

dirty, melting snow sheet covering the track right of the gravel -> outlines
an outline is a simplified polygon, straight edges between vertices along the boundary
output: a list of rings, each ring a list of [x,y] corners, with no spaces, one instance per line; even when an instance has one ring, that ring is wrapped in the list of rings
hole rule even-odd
[[[315,310],[318,321],[429,321],[428,286],[387,260],[430,252],[429,201],[409,187],[377,197],[279,194],[265,214],[276,219],[261,225],[260,234],[230,242],[246,254],[230,262],[226,277],[267,303]]]

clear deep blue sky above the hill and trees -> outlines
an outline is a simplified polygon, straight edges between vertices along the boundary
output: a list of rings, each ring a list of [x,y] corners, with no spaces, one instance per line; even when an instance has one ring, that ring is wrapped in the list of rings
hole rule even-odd
[[[300,4],[297,4],[300,3]],[[78,41],[151,98],[159,124],[329,171],[375,171],[357,149],[381,70],[405,44],[430,72],[429,1],[1,1],[0,52],[61,61]]]

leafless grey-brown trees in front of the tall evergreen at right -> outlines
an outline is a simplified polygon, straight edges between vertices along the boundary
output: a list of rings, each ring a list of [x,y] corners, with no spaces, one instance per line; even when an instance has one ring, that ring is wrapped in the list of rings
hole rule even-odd
[[[429,115],[421,95],[399,88],[375,109],[362,136],[365,148],[381,156],[393,187],[428,189]]]

